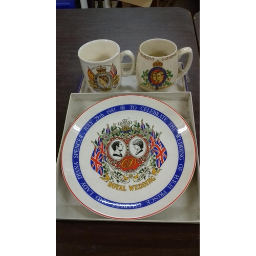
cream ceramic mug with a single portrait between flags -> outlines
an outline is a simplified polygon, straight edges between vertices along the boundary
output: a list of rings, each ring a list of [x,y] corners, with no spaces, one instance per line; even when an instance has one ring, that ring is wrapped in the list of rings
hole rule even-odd
[[[132,68],[127,72],[121,69],[124,56],[132,59]],[[120,53],[119,45],[106,39],[87,42],[78,50],[78,57],[86,83],[93,93],[117,91],[121,86],[122,76],[132,75],[136,64],[131,51]]]

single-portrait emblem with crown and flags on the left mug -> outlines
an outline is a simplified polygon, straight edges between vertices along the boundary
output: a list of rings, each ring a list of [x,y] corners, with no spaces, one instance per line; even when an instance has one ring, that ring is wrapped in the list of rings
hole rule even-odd
[[[97,92],[108,92],[118,86],[119,75],[117,74],[117,69],[114,63],[107,72],[105,67],[99,66],[96,69],[97,73],[94,74],[90,68],[88,68],[89,84],[93,90]]]

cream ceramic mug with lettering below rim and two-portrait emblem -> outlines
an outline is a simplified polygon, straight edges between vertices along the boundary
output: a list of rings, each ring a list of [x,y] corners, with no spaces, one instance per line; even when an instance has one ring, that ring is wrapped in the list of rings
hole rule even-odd
[[[178,74],[179,59],[184,54],[188,54],[187,65]],[[174,42],[160,38],[144,41],[136,61],[139,86],[147,92],[169,91],[174,82],[188,72],[192,60],[193,51],[190,47],[177,50]]]

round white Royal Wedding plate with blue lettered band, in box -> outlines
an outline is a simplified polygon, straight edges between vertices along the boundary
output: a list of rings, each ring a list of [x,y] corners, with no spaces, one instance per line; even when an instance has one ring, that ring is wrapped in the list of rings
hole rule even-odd
[[[63,140],[61,169],[74,197],[96,214],[140,219],[174,203],[196,166],[182,116],[160,100],[122,95],[81,113]]]

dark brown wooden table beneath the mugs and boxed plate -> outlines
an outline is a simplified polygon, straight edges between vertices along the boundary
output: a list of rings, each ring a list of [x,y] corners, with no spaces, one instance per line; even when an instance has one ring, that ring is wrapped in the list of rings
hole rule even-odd
[[[166,38],[189,46],[188,72],[199,150],[199,53],[193,19],[185,9],[110,8],[56,10],[56,159],[69,97],[78,92],[82,69],[77,51],[88,41],[111,39],[135,57],[141,42]],[[186,59],[181,59],[184,64]],[[199,255],[199,225],[120,221],[56,221],[56,255]]]

